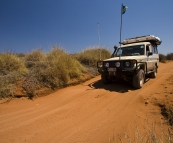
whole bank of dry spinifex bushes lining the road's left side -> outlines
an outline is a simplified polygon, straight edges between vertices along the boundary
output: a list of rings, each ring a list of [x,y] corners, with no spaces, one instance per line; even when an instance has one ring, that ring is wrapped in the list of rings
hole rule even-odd
[[[95,67],[100,59],[109,58],[105,47],[91,47],[76,54],[68,54],[61,47],[49,53],[34,50],[30,53],[0,53],[0,99],[37,96],[41,89],[58,89],[75,79],[82,81],[88,67]],[[97,71],[95,71],[97,72]]]

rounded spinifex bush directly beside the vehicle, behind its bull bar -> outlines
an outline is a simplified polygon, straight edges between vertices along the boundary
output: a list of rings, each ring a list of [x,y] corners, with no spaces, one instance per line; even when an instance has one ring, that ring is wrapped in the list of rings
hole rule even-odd
[[[107,48],[91,47],[73,56],[82,64],[96,66],[98,60],[110,58],[111,52]]]

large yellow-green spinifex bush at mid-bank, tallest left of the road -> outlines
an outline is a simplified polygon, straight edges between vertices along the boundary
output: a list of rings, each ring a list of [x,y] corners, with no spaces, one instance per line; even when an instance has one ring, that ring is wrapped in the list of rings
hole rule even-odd
[[[80,79],[85,72],[84,67],[61,48],[53,47],[47,60],[50,65],[44,72],[48,77],[44,80],[48,80],[53,88],[65,86],[70,79]]]

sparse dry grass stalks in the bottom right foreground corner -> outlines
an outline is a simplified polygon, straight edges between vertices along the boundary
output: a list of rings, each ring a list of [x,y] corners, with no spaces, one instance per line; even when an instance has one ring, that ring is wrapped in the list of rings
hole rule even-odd
[[[123,127],[124,129],[124,127]],[[117,137],[113,135],[109,138],[109,143],[172,143],[173,132],[171,128],[165,127],[163,121],[145,120],[143,125],[137,125],[136,122],[131,127],[130,133],[123,132]]]

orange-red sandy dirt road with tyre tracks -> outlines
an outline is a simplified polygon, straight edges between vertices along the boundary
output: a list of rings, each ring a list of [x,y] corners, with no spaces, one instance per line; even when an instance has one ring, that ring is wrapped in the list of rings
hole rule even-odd
[[[139,90],[129,83],[103,85],[97,76],[33,101],[0,104],[0,143],[126,142],[126,134],[134,139],[152,121],[167,127],[154,103],[172,98],[171,77],[173,62],[160,63],[157,78]]]

